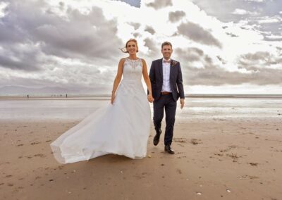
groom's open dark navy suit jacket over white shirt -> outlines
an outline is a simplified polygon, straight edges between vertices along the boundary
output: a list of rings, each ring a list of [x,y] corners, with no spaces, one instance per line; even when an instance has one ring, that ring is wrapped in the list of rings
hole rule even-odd
[[[149,71],[149,78],[152,85],[152,96],[155,101],[161,97],[161,89],[163,87],[163,59],[152,61],[152,65]],[[180,63],[171,59],[171,70],[169,75],[169,82],[171,85],[171,92],[173,100],[177,101],[179,96],[181,99],[185,99],[182,73]]]

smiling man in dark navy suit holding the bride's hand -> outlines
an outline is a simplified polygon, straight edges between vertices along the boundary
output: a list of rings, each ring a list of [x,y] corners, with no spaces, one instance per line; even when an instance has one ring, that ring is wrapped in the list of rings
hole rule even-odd
[[[164,134],[164,151],[174,154],[171,149],[173,126],[176,120],[176,101],[180,96],[180,108],[184,106],[184,89],[180,63],[171,59],[172,45],[170,42],[161,44],[163,58],[152,61],[149,78],[152,84],[154,98],[154,145],[159,144],[161,135],[161,120],[166,111],[166,132]]]

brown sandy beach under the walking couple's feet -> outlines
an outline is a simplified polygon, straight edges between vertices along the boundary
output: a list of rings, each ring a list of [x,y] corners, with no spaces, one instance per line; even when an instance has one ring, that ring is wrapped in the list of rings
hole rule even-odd
[[[0,199],[282,199],[281,109],[264,115],[252,108],[251,117],[197,115],[197,102],[188,106],[188,115],[176,117],[174,155],[164,153],[164,135],[152,144],[151,125],[146,158],[106,155],[67,165],[49,144],[80,120],[2,115]]]

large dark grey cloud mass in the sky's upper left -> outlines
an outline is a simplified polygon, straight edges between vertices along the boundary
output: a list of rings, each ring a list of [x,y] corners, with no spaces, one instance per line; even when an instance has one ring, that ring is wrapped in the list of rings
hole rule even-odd
[[[118,54],[111,47],[122,45],[121,39],[113,36],[117,32],[116,21],[106,20],[101,8],[92,7],[87,14],[68,8],[66,19],[46,6],[42,1],[28,5],[14,1],[8,6],[8,14],[0,19],[2,67],[38,70],[44,64],[44,56],[91,61]]]

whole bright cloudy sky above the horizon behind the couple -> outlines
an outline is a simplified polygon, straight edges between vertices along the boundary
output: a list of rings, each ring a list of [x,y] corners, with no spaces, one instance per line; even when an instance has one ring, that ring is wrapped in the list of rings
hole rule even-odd
[[[0,0],[0,87],[110,94],[130,38],[186,94],[282,94],[282,0]]]

